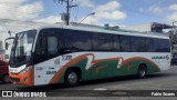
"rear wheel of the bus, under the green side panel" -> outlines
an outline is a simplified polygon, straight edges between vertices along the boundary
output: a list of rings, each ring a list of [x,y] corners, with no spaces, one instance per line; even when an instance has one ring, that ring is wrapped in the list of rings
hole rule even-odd
[[[146,73],[147,73],[146,66],[140,64],[139,68],[138,68],[137,77],[138,77],[139,79],[145,78],[145,77],[146,77]]]

